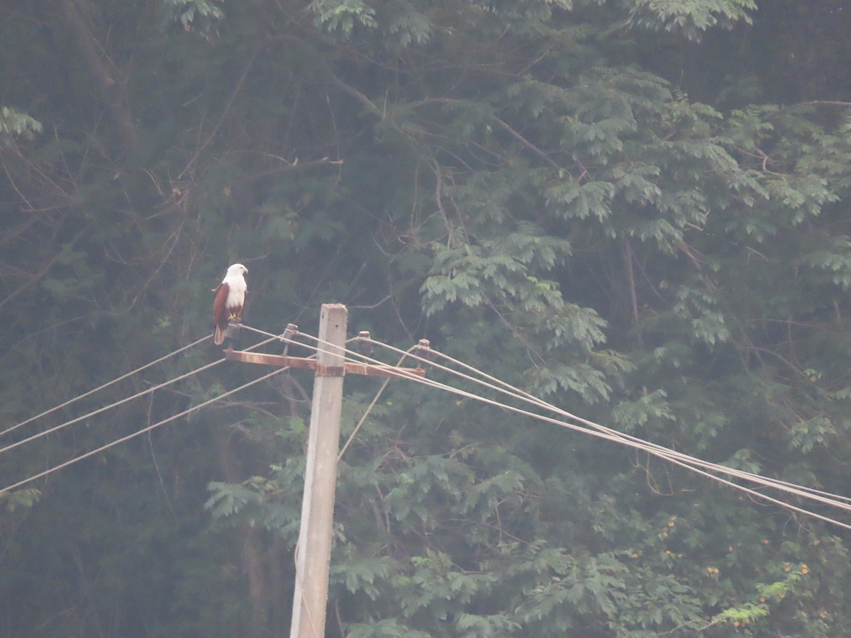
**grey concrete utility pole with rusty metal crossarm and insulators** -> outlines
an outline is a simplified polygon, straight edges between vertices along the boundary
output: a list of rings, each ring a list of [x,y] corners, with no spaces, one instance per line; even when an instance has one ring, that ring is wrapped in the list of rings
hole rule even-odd
[[[299,543],[295,548],[295,592],[290,638],[323,638],[325,635],[344,375],[353,373],[402,379],[412,375],[426,376],[420,366],[400,368],[346,362],[347,319],[345,305],[322,305],[316,359],[225,350],[225,358],[229,361],[300,367],[315,373],[301,528]],[[298,330],[292,324],[287,329],[292,335]],[[369,333],[361,333],[360,339],[368,343]],[[420,353],[425,354],[428,346],[426,339],[420,339]]]

